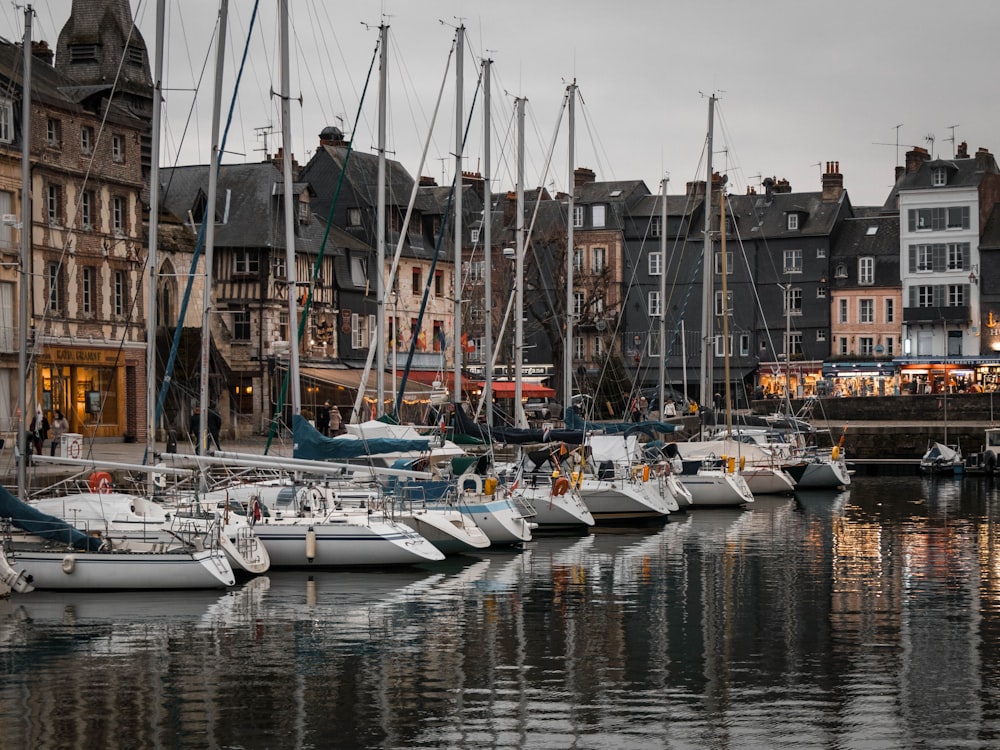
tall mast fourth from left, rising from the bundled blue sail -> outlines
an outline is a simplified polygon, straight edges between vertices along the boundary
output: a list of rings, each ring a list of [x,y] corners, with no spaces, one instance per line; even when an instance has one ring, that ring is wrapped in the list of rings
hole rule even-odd
[[[298,273],[295,268],[295,196],[292,183],[292,103],[289,85],[288,0],[279,0],[281,13],[281,147],[284,152],[282,178],[285,185],[285,268],[288,274],[288,324],[294,336],[288,347],[288,380],[292,389],[292,415],[302,413],[302,381],[299,380]]]

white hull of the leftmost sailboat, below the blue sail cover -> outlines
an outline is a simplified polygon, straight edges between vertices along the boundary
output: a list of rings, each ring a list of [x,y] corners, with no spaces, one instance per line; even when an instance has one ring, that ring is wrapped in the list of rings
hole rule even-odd
[[[213,589],[236,583],[221,550],[200,552],[78,552],[32,549],[15,542],[17,567],[36,589]]]

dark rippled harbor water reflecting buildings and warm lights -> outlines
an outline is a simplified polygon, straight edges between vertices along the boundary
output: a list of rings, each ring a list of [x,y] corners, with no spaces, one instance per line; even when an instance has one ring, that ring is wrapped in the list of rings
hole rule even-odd
[[[1000,746],[1000,482],[0,602],[3,748]]]

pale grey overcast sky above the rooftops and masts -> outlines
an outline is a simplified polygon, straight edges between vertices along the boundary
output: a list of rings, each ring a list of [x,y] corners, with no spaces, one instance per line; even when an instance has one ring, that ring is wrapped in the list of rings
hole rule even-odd
[[[87,0],[97,2],[98,0]],[[152,54],[154,0],[132,0]],[[644,180],[670,193],[704,179],[707,95],[718,98],[716,171],[743,193],[763,177],[795,191],[820,188],[840,163],[852,202],[884,202],[893,170],[912,146],[951,157],[1000,151],[1000,1],[955,0],[290,0],[293,151],[308,159],[328,124],[354,130],[378,25],[389,25],[388,147],[411,174],[451,179],[455,143],[455,26],[467,30],[464,109],[479,63],[493,64],[495,190],[512,189],[515,97],[527,99],[527,187],[568,183],[568,127],[557,129],[567,83],[576,80],[576,166],[601,180]],[[163,164],[207,163],[215,71],[213,0],[168,2]],[[34,38],[55,47],[70,0],[38,0]],[[253,3],[231,0],[223,121],[246,44]],[[262,0],[224,161],[262,158],[280,143],[277,0]],[[19,39],[23,12],[0,10],[0,34]],[[199,88],[199,77],[201,78]],[[444,85],[437,123],[431,118]],[[192,89],[198,88],[195,92]],[[374,149],[377,66],[355,147]],[[481,166],[482,97],[475,100],[466,170]],[[897,128],[897,126],[899,126]],[[261,130],[258,130],[261,129]],[[430,135],[429,135],[430,134]],[[429,141],[425,165],[421,152]],[[899,148],[896,143],[898,140]],[[553,148],[554,143],[554,148]],[[547,154],[551,164],[545,172]]]

